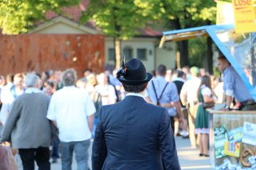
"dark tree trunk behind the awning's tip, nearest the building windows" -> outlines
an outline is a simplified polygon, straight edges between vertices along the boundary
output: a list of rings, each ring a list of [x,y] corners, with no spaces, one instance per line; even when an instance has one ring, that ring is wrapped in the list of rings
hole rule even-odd
[[[173,26],[174,30],[180,30],[181,29],[181,23],[179,22],[179,19],[176,18],[174,20],[170,20],[171,25]],[[186,66],[189,64],[188,62],[188,40],[178,41],[178,52],[180,53],[180,65],[181,67]]]

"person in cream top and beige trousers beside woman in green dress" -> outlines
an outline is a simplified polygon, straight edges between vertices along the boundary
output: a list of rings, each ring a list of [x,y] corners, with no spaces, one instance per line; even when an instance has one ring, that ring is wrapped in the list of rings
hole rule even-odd
[[[180,97],[183,106],[188,108],[188,128],[191,147],[196,148],[195,119],[198,109],[197,91],[201,84],[201,79],[199,79],[200,69],[198,67],[191,67],[189,71],[192,75],[191,79],[183,84]]]

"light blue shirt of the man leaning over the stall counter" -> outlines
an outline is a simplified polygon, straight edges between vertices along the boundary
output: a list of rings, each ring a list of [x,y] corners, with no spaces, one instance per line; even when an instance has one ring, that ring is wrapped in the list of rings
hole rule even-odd
[[[234,96],[238,101],[244,102],[252,100],[249,91],[246,89],[245,84],[242,82],[238,72],[230,66],[223,72],[223,90],[228,96]]]

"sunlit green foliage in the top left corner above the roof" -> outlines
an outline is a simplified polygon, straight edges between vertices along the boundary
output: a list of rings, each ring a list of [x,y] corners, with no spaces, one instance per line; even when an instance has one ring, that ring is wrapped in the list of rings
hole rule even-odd
[[[26,33],[38,21],[46,20],[46,11],[63,13],[64,6],[78,5],[80,0],[1,0],[0,28],[4,34]]]

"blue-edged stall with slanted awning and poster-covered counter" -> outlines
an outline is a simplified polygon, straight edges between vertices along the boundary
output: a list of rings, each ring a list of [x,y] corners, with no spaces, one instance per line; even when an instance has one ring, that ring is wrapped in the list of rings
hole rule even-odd
[[[202,26],[164,32],[161,40],[212,38],[256,101],[256,32],[235,33],[233,25]],[[214,169],[256,169],[256,111],[210,113],[210,164]]]

